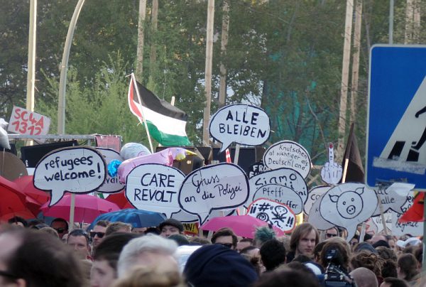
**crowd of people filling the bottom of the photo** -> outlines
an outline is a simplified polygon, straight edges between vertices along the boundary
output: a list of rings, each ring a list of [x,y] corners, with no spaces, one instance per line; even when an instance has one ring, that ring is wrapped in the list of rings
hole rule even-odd
[[[421,239],[345,234],[305,222],[282,237],[269,227],[253,239],[226,227],[204,237],[173,219],[150,228],[101,220],[87,230],[13,217],[0,225],[0,286],[426,286]]]

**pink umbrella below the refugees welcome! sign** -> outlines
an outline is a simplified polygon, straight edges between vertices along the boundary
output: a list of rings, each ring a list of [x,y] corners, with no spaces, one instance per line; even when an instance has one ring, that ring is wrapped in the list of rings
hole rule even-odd
[[[52,207],[46,202],[40,210],[45,216],[61,217],[70,220],[71,195],[67,194]],[[75,222],[92,222],[98,215],[120,210],[113,202],[93,195],[75,195]]]

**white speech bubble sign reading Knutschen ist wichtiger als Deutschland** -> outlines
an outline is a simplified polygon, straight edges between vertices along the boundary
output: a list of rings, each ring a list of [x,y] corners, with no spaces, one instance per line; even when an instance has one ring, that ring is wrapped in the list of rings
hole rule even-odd
[[[307,150],[294,141],[278,141],[263,154],[263,163],[267,168],[292,168],[303,178],[307,178],[311,169],[311,160]]]

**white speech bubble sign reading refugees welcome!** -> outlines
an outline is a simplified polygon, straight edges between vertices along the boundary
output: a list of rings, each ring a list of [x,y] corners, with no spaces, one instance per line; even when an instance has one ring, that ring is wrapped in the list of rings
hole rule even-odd
[[[49,206],[65,191],[90,193],[107,177],[107,165],[99,151],[89,147],[60,148],[44,156],[35,166],[34,186],[51,193]]]

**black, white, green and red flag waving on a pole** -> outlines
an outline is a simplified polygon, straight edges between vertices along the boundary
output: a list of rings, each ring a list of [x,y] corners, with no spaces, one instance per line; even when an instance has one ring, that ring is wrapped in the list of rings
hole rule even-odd
[[[133,73],[129,85],[129,107],[141,121],[146,121],[149,134],[163,146],[191,146],[185,126],[187,114],[136,81]]]

